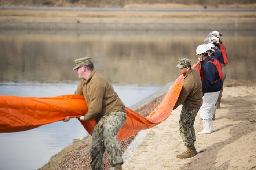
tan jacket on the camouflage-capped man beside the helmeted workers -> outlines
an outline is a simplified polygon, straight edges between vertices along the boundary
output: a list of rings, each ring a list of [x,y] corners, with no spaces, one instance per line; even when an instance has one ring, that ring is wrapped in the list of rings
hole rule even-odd
[[[202,81],[200,75],[194,69],[190,69],[184,76],[184,83],[178,101],[173,109],[179,105],[200,108],[203,103]]]

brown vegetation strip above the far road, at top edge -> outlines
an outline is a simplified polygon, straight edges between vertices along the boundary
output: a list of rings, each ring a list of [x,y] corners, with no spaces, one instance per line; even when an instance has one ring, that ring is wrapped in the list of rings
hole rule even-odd
[[[143,4],[143,5],[142,5]],[[146,6],[145,6],[146,4]],[[254,0],[1,0],[5,6],[55,7],[160,7],[160,8],[253,8]]]

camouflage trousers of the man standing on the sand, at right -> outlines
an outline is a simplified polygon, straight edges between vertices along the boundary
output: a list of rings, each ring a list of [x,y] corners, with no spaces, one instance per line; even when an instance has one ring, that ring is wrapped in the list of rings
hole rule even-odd
[[[195,136],[195,117],[200,108],[193,108],[189,106],[182,106],[179,122],[180,136],[184,142],[184,145],[191,146],[196,141]]]

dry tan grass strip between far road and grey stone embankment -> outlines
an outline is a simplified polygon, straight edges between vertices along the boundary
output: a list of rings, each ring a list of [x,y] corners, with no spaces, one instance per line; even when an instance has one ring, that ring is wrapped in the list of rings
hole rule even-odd
[[[213,19],[222,18],[222,19]],[[0,22],[33,23],[255,23],[254,11],[43,11],[0,10]]]

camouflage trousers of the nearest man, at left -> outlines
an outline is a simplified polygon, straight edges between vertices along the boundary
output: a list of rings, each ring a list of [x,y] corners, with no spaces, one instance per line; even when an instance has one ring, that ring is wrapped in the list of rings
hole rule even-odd
[[[90,148],[91,168],[103,170],[103,154],[107,149],[107,156],[111,166],[123,163],[119,141],[116,137],[118,131],[124,125],[126,113],[121,111],[111,112],[96,123],[92,133]]]

